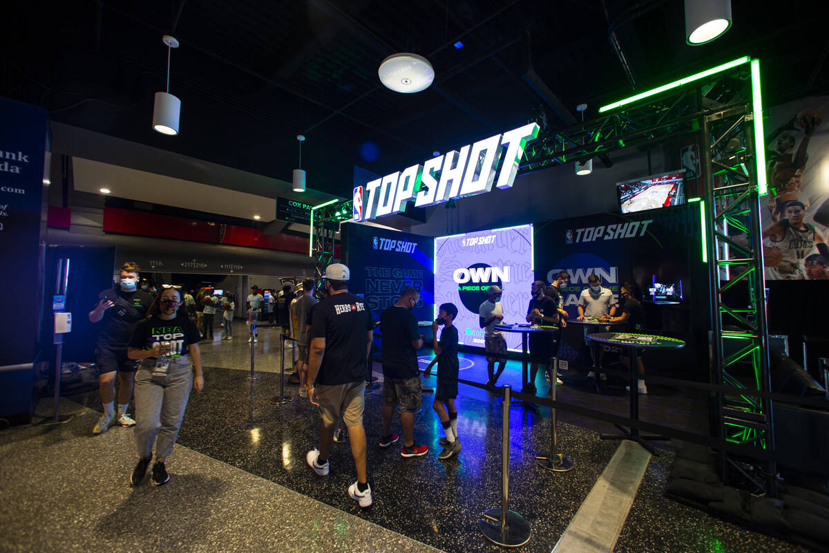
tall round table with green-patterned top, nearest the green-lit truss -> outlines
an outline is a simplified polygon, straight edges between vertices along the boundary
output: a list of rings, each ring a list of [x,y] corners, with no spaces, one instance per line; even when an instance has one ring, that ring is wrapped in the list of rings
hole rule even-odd
[[[680,349],[685,347],[685,342],[678,338],[669,338],[667,336],[659,336],[658,334],[642,334],[641,332],[596,332],[589,334],[587,339],[591,342],[602,344],[609,344],[611,346],[623,347],[628,351],[628,359],[630,360],[630,418],[631,420],[639,420],[639,392],[637,387],[637,360],[639,358],[639,350],[659,350],[659,349]],[[643,448],[656,454],[656,449],[653,449],[651,444],[647,443],[648,439],[667,439],[664,436],[643,436],[639,434],[639,429],[626,429],[619,424],[613,424],[616,428],[622,431],[622,434],[599,434],[601,439],[630,439]]]

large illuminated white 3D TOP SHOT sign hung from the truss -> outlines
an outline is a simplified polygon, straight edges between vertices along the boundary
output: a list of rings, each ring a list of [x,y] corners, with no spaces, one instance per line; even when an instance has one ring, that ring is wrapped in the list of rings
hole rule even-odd
[[[498,188],[510,188],[528,140],[538,136],[538,125],[526,124],[406,167],[354,189],[354,221],[368,221],[405,210]]]

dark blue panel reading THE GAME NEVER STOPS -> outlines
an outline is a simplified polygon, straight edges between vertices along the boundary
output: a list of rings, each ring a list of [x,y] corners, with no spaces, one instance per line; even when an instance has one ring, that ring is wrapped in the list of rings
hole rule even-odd
[[[342,243],[345,245],[342,262],[351,270],[348,291],[366,298],[376,320],[383,309],[397,302],[407,286],[420,290],[420,300],[414,306],[418,320],[434,318],[434,239],[431,236],[344,223]]]

